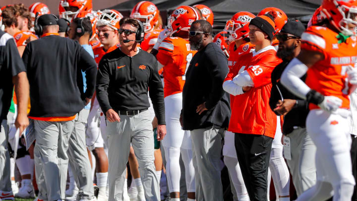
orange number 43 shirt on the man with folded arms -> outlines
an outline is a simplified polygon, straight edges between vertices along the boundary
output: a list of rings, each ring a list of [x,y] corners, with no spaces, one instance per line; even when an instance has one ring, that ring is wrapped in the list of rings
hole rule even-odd
[[[274,47],[268,46],[266,51],[259,54],[252,52],[241,56],[236,65],[230,69],[225,81],[232,80],[238,73],[246,70],[254,87],[234,97],[228,131],[261,134],[274,138],[277,118],[269,107],[271,72],[281,62],[276,57]]]

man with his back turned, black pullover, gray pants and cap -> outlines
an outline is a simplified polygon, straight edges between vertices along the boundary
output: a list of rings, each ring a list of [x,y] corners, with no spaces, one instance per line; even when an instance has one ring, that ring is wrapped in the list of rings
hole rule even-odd
[[[68,139],[76,114],[94,93],[97,69],[78,42],[59,36],[56,16],[41,15],[36,22],[35,31],[41,39],[30,42],[22,55],[30,83],[36,180],[40,200],[64,200]],[[82,71],[86,73],[86,92]]]

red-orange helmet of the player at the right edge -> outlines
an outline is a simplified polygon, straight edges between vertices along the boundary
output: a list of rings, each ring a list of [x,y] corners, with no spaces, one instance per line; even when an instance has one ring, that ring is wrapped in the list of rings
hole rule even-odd
[[[349,24],[357,25],[357,0],[323,0],[321,15],[329,19],[344,35],[356,35],[356,27],[351,30]]]

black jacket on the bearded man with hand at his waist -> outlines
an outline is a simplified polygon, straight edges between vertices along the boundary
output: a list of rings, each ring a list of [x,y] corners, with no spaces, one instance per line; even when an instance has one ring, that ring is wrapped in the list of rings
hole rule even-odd
[[[212,125],[228,128],[231,117],[230,97],[222,84],[228,74],[227,58],[215,43],[208,44],[192,58],[182,91],[183,130],[207,128]],[[196,113],[206,102],[208,111]]]

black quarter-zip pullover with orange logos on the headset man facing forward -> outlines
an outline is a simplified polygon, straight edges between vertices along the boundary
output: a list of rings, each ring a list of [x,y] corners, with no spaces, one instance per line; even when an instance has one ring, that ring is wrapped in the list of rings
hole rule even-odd
[[[149,95],[159,125],[165,125],[164,89],[156,58],[146,51],[129,57],[120,48],[103,56],[97,75],[97,98],[103,112],[143,110]]]

